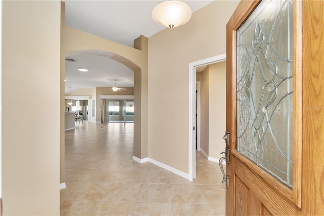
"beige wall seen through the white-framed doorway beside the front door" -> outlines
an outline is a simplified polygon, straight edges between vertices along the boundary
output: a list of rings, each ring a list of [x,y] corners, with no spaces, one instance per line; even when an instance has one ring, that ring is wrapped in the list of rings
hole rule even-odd
[[[226,61],[208,65],[201,73],[201,149],[210,160],[225,149]]]

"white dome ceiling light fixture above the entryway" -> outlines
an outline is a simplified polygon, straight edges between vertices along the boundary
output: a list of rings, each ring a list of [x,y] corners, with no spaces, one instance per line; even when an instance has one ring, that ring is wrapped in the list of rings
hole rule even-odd
[[[153,20],[169,28],[186,24],[191,18],[191,9],[183,2],[170,0],[158,4],[152,11]]]

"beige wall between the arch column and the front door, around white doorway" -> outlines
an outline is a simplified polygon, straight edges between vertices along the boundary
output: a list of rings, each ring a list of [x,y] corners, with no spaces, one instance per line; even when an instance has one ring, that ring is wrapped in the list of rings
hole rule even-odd
[[[188,65],[226,53],[226,23],[238,3],[213,1],[187,24],[149,38],[149,158],[188,173]],[[167,120],[156,115],[166,111],[161,104],[171,104]]]

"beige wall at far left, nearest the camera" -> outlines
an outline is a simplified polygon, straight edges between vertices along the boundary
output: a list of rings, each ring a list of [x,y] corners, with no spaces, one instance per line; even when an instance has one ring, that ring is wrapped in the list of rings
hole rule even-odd
[[[4,215],[60,214],[60,10],[59,1],[3,1]],[[25,105],[40,103],[51,105]]]

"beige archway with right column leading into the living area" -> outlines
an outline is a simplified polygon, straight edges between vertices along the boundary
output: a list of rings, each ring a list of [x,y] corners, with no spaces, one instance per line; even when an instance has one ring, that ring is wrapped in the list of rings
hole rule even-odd
[[[134,157],[147,157],[147,70],[148,38],[140,36],[134,47],[67,26],[62,30],[61,42],[61,118],[60,118],[60,183],[64,183],[64,63],[65,56],[77,54],[99,55],[116,60],[134,71]],[[136,101],[136,102],[135,102]]]

